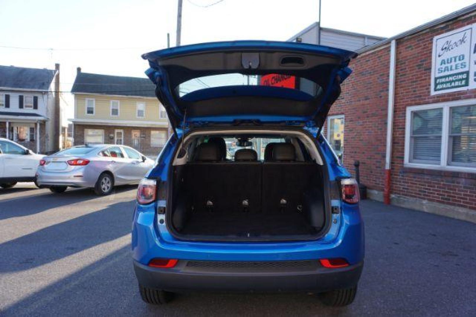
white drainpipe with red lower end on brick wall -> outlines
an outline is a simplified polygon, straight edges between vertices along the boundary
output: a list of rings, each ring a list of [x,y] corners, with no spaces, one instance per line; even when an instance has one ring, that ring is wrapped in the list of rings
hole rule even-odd
[[[397,59],[397,41],[390,42],[390,68],[388,72],[388,109],[387,109],[387,146],[385,151],[384,203],[390,204],[393,108],[395,98],[395,60]]]

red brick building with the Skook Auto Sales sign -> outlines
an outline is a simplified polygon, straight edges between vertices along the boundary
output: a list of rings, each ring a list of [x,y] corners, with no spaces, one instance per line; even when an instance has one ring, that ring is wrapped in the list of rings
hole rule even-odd
[[[475,25],[473,5],[357,50],[324,134],[370,198],[476,222]]]

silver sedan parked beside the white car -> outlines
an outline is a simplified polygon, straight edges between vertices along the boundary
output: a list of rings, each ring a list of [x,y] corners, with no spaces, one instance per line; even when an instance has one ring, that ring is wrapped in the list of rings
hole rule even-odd
[[[139,183],[154,164],[126,145],[80,145],[44,157],[37,183],[56,193],[90,187],[98,195],[108,195],[115,185]]]

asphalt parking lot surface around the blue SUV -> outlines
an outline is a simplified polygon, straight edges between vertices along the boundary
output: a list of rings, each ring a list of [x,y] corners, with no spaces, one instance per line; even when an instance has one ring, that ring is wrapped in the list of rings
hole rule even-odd
[[[149,307],[130,258],[135,189],[0,189],[0,315],[476,315],[476,224],[371,201],[361,205],[366,263],[349,307],[306,294],[208,293]]]

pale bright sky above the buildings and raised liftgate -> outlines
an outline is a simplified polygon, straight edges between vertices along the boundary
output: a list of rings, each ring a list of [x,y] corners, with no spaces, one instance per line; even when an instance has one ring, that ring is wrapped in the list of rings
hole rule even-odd
[[[286,40],[318,19],[318,0],[183,0],[182,45]],[[470,0],[322,0],[322,26],[390,37]],[[84,72],[145,77],[142,53],[175,45],[176,0],[0,0],[0,65],[54,68],[69,91]],[[72,116],[72,97],[64,94]],[[67,104],[66,104],[67,103]]]

